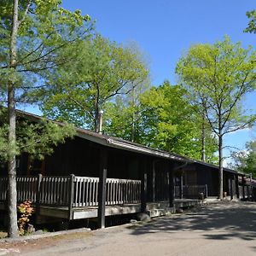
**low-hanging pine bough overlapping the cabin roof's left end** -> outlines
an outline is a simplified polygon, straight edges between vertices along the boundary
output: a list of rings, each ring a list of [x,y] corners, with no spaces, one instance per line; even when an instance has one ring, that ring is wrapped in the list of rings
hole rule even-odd
[[[52,154],[58,143],[65,143],[66,139],[72,138],[76,131],[73,125],[59,125],[46,119],[30,121],[24,117],[18,117],[16,125],[16,144],[8,142],[8,129],[6,125],[6,109],[1,111],[0,119],[0,155],[1,162],[8,159],[8,152],[14,155],[28,153],[33,158],[44,159],[47,154]]]

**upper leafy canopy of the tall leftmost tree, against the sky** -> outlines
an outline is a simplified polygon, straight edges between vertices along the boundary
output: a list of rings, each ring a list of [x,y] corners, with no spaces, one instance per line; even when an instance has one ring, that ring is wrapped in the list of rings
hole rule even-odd
[[[19,98],[26,98],[30,90],[45,85],[45,77],[59,65],[73,61],[73,55],[63,56],[73,44],[90,37],[93,22],[79,10],[61,8],[61,1],[20,0],[15,68],[9,68],[9,44],[13,3],[2,1],[0,7],[0,90],[12,82],[12,69],[19,73],[16,83]],[[2,75],[3,74],[3,75]],[[18,77],[16,75],[16,77]],[[9,78],[8,81],[6,78]],[[5,80],[4,80],[5,79]],[[22,94],[24,96],[22,96]],[[21,97],[20,97],[21,96]],[[25,97],[26,96],[26,97]],[[6,93],[5,93],[6,98]],[[17,98],[16,100],[19,101]],[[29,102],[37,102],[36,97]]]

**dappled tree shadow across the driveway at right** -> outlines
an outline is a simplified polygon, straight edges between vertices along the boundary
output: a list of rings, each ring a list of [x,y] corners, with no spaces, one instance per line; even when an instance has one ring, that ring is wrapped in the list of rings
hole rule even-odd
[[[131,226],[131,235],[143,235],[158,232],[176,232],[177,230],[210,231],[202,234],[207,239],[228,240],[256,238],[256,203],[226,202],[202,207],[197,212],[157,218],[145,225]],[[213,232],[213,231],[218,232]],[[211,232],[212,231],[212,232]]]

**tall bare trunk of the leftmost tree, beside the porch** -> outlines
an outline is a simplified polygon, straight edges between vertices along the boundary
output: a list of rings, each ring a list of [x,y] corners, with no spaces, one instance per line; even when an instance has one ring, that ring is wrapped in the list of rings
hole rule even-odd
[[[10,42],[10,68],[16,68],[17,61],[17,32],[18,32],[18,0],[14,0],[13,24]],[[15,75],[15,73],[14,73]],[[9,118],[9,158],[8,158],[8,176],[9,176],[9,236],[17,237],[17,190],[16,190],[16,115],[15,115],[15,79],[11,78],[8,85],[8,118]]]

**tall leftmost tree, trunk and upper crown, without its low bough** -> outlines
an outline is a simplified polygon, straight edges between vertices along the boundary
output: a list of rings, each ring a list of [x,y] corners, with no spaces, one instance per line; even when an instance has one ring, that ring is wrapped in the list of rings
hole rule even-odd
[[[45,76],[55,67],[72,61],[58,55],[79,43],[90,31],[89,16],[69,12],[59,0],[3,0],[0,6],[0,95],[8,108],[9,236],[18,236],[16,214],[15,156],[16,113],[19,103],[35,102],[32,90],[44,86]]]

